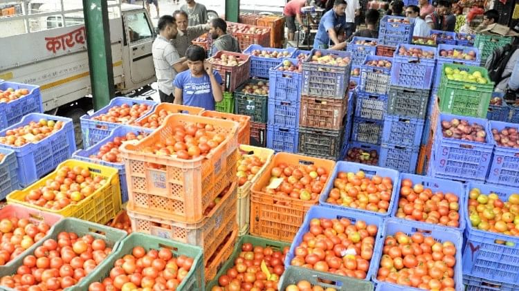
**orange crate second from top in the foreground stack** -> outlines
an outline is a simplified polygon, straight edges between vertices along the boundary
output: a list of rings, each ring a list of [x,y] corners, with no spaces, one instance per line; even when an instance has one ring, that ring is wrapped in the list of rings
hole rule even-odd
[[[143,232],[189,245],[198,245],[202,247],[204,263],[207,263],[217,246],[223,243],[224,238],[236,228],[238,188],[235,180],[231,181],[230,188],[221,198],[220,203],[197,223],[180,223],[152,213],[135,212],[133,205],[128,203],[131,229],[133,232]]]

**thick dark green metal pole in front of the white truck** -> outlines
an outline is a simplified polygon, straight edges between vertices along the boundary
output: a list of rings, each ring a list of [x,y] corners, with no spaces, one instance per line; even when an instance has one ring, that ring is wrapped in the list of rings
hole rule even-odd
[[[93,108],[101,109],[115,94],[107,1],[83,0]]]

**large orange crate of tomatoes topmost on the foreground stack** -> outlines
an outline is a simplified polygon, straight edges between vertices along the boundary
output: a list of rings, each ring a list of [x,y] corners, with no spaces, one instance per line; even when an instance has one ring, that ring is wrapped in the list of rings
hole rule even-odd
[[[211,124],[226,140],[207,156],[181,160],[143,150],[170,137],[176,125]],[[172,114],[152,134],[120,147],[125,161],[129,203],[134,211],[196,223],[236,175],[238,124],[197,115]],[[222,180],[224,179],[224,180]],[[225,183],[227,182],[227,183]]]

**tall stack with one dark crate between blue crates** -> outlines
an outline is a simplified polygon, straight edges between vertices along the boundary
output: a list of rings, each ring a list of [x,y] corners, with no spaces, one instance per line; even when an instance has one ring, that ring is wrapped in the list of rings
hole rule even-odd
[[[399,44],[384,116],[381,167],[415,173],[435,72],[436,48]]]

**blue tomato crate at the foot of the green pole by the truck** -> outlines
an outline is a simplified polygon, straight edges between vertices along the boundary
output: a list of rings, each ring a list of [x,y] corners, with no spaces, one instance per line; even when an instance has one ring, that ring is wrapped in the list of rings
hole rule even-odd
[[[102,109],[99,109],[92,115],[83,115],[80,118],[80,122],[81,132],[83,136],[83,145],[85,149],[92,147],[94,144],[97,144],[100,140],[110,135],[113,129],[116,129],[116,127],[121,125],[119,123],[93,120],[92,118],[95,116],[106,114],[109,111],[109,109],[111,109],[111,107],[121,106],[122,104],[129,104],[129,106],[132,106],[134,104],[147,104],[149,106],[152,106],[152,108],[146,114],[149,115],[155,110],[155,106],[157,103],[149,100],[136,100],[134,98],[129,97],[115,97],[110,101],[110,103],[107,106],[104,106]],[[141,118],[145,118],[146,115],[142,116]]]

